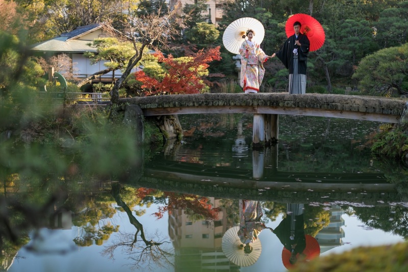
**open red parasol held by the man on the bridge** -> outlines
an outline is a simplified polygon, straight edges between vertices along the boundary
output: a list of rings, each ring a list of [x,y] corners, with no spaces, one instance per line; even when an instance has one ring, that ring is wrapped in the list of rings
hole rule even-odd
[[[298,13],[289,17],[285,24],[286,36],[289,38],[295,34],[293,23],[296,21],[302,24],[300,33],[308,36],[310,41],[309,51],[316,51],[322,47],[325,38],[323,27],[315,18],[308,14]]]

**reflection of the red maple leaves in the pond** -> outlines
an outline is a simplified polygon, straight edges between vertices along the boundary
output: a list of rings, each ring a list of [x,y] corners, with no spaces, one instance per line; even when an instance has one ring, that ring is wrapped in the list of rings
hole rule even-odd
[[[148,195],[155,194],[156,189],[139,188],[137,197],[144,199]],[[165,212],[171,213],[175,209],[183,209],[187,214],[197,214],[203,216],[206,220],[217,220],[220,208],[213,208],[207,197],[201,197],[189,194],[180,194],[174,192],[163,192],[163,197],[167,198],[167,205],[159,207],[155,216],[160,219]]]

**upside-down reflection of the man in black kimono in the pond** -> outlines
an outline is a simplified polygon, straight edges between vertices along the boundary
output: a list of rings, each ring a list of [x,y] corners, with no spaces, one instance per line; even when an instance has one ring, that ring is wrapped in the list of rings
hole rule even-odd
[[[306,247],[306,239],[304,237],[303,204],[288,204],[286,217],[273,230],[273,233],[291,252],[289,260],[291,264],[296,263],[298,253],[304,258],[302,253]]]

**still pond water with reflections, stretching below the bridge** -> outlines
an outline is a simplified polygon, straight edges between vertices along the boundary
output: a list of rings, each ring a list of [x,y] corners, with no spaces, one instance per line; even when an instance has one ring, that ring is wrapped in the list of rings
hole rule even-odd
[[[279,116],[278,144],[252,150],[251,115],[179,118],[181,143],[139,150],[127,165],[114,164],[119,154],[89,155],[109,156],[112,173],[105,165],[100,175],[72,165],[72,175],[58,167],[33,171],[23,184],[3,162],[4,269],[286,271],[281,240],[291,243],[294,235],[301,244],[296,221],[312,237],[306,249],[317,252],[316,241],[320,256],[408,236],[406,168],[368,148],[379,123]],[[240,224],[242,200],[258,203],[261,221],[274,230],[259,233],[244,264],[242,250],[224,252],[226,238],[222,246]]]

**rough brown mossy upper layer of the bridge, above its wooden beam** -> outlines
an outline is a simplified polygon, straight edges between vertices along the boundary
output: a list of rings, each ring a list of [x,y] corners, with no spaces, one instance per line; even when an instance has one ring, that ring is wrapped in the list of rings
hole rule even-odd
[[[120,102],[138,104],[142,110],[203,106],[274,106],[396,116],[401,116],[405,106],[404,100],[394,98],[336,94],[291,95],[288,93],[162,95],[123,98]],[[253,113],[257,112],[254,110]]]

